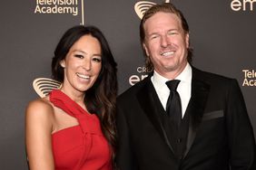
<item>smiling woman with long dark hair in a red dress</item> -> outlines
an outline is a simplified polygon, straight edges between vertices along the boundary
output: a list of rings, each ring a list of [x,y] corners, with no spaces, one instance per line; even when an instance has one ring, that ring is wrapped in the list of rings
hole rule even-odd
[[[31,170],[110,170],[115,146],[116,63],[103,33],[74,26],[52,61],[62,82],[26,109],[26,151]]]

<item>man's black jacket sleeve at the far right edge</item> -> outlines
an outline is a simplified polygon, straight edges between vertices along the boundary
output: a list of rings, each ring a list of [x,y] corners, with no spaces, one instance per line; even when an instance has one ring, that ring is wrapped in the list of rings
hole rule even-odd
[[[255,138],[237,80],[231,80],[226,106],[231,170],[255,170]]]

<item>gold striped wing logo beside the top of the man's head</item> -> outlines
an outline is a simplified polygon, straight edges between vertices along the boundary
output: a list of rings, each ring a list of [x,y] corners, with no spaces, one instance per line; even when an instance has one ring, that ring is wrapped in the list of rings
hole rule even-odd
[[[170,0],[166,0],[165,3],[170,3]],[[149,1],[139,1],[134,5],[134,10],[139,18],[142,19],[145,12],[153,5],[156,4]]]

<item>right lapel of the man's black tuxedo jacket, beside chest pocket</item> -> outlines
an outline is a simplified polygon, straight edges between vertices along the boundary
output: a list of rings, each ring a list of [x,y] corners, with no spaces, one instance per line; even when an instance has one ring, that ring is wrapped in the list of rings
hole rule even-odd
[[[189,114],[190,123],[188,130],[187,146],[184,152],[186,156],[191,149],[198,127],[202,122],[203,111],[206,106],[210,85],[200,80],[199,71],[192,68],[192,97],[185,114]]]

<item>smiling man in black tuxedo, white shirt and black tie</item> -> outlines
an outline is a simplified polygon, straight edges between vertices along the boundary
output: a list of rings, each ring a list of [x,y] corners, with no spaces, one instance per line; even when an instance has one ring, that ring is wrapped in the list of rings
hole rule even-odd
[[[255,139],[239,85],[192,67],[182,13],[172,4],[154,5],[140,31],[153,74],[117,100],[119,168],[255,170]],[[176,90],[169,90],[169,80]]]

